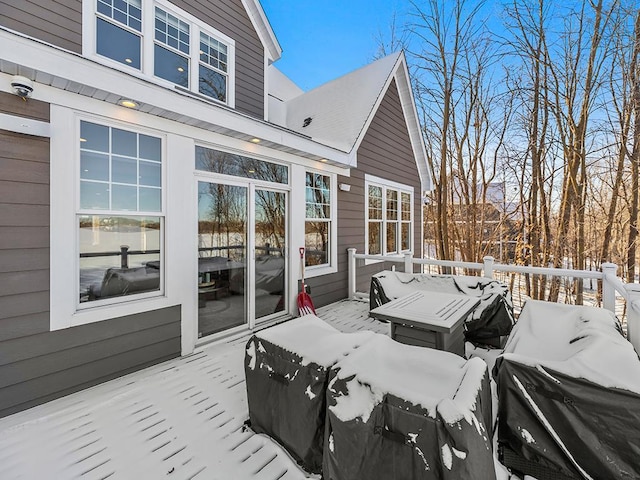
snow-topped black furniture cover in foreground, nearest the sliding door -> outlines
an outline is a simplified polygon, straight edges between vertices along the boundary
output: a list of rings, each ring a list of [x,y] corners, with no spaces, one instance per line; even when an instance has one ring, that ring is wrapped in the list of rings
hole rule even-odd
[[[329,368],[372,338],[306,315],[253,335],[245,351],[249,420],[306,470],[320,473]]]

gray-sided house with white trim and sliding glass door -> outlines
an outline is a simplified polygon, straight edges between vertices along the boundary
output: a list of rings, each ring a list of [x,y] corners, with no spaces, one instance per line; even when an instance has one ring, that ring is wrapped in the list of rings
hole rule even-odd
[[[0,416],[422,256],[405,58],[309,92],[257,0],[0,0]],[[21,98],[24,97],[24,98]]]

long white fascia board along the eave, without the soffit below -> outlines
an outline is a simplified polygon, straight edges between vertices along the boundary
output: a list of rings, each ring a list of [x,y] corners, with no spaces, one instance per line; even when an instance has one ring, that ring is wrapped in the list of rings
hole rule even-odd
[[[241,113],[156,85],[147,79],[106,67],[78,54],[54,48],[3,29],[0,29],[0,44],[3,45],[0,59],[17,65],[123,98],[131,98],[143,104],[157,106],[199,121],[215,123],[248,136],[326,158],[338,166],[349,167],[348,153],[321,145],[264,121],[258,121]],[[35,89],[38,88],[39,86],[36,85]]]

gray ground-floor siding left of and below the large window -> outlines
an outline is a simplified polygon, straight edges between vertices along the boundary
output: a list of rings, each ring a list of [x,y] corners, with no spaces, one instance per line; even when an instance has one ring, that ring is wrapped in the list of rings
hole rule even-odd
[[[7,93],[0,112],[49,121]],[[0,145],[0,417],[178,356],[179,305],[49,331],[49,140]]]

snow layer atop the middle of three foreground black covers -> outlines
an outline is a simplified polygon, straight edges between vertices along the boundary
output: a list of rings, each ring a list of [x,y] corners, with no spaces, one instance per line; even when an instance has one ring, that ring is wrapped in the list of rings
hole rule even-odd
[[[335,368],[329,389],[340,379],[347,382],[349,393],[337,395],[336,405],[329,408],[343,422],[356,418],[367,422],[373,408],[392,394],[453,424],[462,418],[472,422],[487,365],[479,358],[467,361],[375,335]]]

